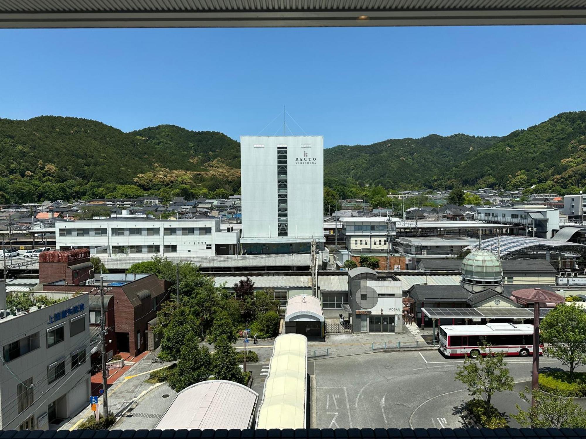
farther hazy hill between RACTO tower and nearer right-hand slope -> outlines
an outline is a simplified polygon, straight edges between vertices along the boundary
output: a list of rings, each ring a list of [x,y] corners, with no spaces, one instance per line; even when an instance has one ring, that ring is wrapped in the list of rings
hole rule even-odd
[[[431,187],[436,181],[445,180],[447,172],[462,160],[475,157],[499,139],[432,134],[420,139],[389,139],[372,145],[335,146],[324,151],[324,176],[332,184]]]

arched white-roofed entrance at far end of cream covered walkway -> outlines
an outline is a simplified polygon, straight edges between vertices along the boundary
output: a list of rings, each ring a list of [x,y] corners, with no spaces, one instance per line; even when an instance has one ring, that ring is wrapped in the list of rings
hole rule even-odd
[[[285,333],[302,334],[305,337],[325,335],[325,318],[322,303],[317,297],[299,294],[287,300]]]

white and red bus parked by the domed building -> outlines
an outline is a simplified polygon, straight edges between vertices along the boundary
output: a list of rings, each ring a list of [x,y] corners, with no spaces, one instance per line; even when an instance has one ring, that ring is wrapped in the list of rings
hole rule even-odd
[[[489,344],[492,352],[533,355],[533,325],[489,323],[440,327],[440,351],[446,356],[476,356],[482,353],[483,344]],[[539,354],[543,354],[543,344]]]

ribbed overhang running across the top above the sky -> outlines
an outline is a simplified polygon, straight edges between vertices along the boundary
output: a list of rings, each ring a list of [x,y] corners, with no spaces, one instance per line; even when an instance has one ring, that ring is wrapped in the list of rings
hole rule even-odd
[[[584,0],[0,0],[0,28],[586,24]]]

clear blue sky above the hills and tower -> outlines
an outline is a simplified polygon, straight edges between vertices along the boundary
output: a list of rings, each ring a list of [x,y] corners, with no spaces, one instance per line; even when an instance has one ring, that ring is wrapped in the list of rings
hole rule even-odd
[[[0,117],[237,139],[285,105],[328,147],[505,135],[586,109],[585,46],[586,26],[0,30]]]

